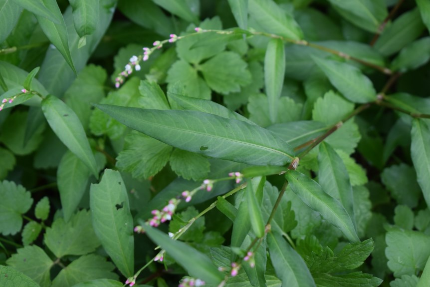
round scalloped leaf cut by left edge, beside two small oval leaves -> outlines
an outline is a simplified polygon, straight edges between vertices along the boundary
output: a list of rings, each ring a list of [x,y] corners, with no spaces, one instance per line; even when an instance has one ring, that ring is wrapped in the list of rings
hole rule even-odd
[[[22,214],[31,207],[31,194],[21,185],[3,180],[0,182],[0,232],[14,235],[21,230]]]

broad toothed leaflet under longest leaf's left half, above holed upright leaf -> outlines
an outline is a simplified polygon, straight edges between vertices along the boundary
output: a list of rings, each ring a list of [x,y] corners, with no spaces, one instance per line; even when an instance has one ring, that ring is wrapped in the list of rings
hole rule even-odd
[[[172,150],[170,145],[132,131],[125,138],[125,147],[119,153],[116,165],[135,178],[148,178],[167,164]]]

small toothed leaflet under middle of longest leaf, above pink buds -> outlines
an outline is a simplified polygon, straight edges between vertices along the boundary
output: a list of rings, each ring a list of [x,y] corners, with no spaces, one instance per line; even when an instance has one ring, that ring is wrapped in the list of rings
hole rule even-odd
[[[205,179],[210,171],[209,160],[201,154],[175,149],[170,157],[172,170],[185,179]]]

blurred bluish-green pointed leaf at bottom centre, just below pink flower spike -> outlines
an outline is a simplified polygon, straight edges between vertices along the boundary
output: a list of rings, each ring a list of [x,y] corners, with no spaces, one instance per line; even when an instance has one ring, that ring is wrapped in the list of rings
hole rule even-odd
[[[141,224],[145,226],[145,233],[149,238],[160,245],[169,256],[184,267],[190,276],[200,278],[209,284],[219,284],[224,279],[224,276],[206,255],[186,243],[170,239],[169,236],[158,229],[151,228],[143,222]]]

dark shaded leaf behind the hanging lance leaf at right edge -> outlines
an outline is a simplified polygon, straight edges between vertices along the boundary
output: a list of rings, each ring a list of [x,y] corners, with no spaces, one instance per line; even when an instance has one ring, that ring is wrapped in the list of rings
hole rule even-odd
[[[399,204],[414,208],[421,196],[415,169],[402,163],[384,169],[381,174],[384,185]]]

